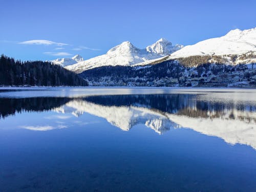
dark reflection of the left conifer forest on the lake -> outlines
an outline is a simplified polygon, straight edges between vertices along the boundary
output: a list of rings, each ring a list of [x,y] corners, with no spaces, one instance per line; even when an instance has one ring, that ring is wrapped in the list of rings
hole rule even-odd
[[[24,111],[49,111],[70,100],[70,98],[63,97],[0,98],[0,119]]]

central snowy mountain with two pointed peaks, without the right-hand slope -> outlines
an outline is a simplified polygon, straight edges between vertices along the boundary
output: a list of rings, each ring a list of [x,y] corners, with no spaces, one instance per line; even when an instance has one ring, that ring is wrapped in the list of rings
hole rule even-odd
[[[106,54],[69,65],[66,69],[75,73],[102,66],[132,66],[140,62],[160,58],[181,49],[181,45],[172,46],[168,40],[161,38],[145,49],[136,48],[131,42],[124,41],[110,49]]]

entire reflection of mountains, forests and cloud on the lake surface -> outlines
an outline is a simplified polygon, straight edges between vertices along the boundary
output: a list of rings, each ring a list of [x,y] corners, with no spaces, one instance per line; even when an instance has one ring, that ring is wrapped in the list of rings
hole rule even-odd
[[[225,99],[222,100],[222,96]],[[106,119],[123,131],[129,131],[137,124],[144,124],[158,134],[188,128],[220,137],[230,144],[242,143],[256,148],[255,103],[237,96],[235,100],[230,98],[232,94],[227,97],[225,93],[1,98],[0,117],[23,111],[51,110],[60,114],[48,117],[62,120],[55,126],[22,126],[47,131],[67,128],[65,121],[70,118],[67,115],[79,118],[89,113]]]

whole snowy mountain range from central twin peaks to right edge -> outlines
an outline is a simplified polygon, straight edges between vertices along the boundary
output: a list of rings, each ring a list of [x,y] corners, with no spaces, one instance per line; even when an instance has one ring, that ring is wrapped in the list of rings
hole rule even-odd
[[[69,65],[66,69],[81,73],[103,66],[146,66],[178,58],[188,58],[182,60],[186,66],[198,66],[208,62],[228,65],[255,63],[256,28],[231,30],[222,37],[206,39],[185,47],[173,46],[164,38],[145,49],[138,49],[131,42],[125,41],[104,55]]]

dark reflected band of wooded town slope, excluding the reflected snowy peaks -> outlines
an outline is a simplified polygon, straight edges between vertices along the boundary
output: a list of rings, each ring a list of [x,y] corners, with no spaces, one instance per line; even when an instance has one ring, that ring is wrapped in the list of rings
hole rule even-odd
[[[138,106],[161,113],[195,118],[239,118],[256,122],[255,116],[252,115],[256,112],[256,105],[237,101],[202,100],[200,96],[200,94],[104,95],[90,96],[84,100],[104,106]]]

